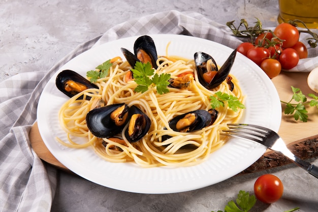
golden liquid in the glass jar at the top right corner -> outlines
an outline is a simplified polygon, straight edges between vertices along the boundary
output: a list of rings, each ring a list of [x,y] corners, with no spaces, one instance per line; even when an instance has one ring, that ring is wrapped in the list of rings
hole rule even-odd
[[[279,0],[278,22],[301,20],[308,28],[318,28],[318,0]],[[303,27],[301,23],[298,26]]]

